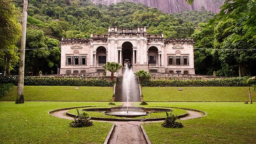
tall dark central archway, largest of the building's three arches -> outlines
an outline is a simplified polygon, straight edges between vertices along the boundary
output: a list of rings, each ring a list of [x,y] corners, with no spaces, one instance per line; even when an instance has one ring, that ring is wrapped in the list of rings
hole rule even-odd
[[[130,42],[124,42],[122,44],[122,64],[123,66],[126,63],[130,63],[130,66],[132,66],[132,62],[133,62],[133,51],[132,51],[132,44]]]

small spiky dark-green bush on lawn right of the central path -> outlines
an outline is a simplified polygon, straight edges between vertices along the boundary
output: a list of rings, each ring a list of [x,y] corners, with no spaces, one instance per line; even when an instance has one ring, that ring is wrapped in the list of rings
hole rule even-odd
[[[182,125],[182,123],[180,122],[176,122],[176,120],[178,119],[178,117],[172,113],[167,113],[166,112],[166,118],[164,120],[164,123],[162,123],[162,126],[163,127],[166,127],[166,128],[182,128],[184,127]]]

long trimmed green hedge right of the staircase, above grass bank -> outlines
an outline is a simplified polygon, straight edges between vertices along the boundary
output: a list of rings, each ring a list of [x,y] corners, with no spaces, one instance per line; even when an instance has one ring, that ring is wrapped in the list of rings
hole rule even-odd
[[[232,77],[223,79],[195,80],[148,80],[142,86],[245,86],[248,77]]]

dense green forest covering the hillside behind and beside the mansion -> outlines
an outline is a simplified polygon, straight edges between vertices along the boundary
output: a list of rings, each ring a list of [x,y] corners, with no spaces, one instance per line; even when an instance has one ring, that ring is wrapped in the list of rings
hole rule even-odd
[[[239,9],[244,11],[240,17],[233,17],[223,11],[216,16],[207,11],[167,14],[130,2],[105,6],[90,0],[30,0],[25,75],[38,75],[39,71],[56,74],[61,37],[89,38],[91,32],[106,33],[108,26],[146,26],[148,33],[163,32],[165,38],[193,36],[196,74],[212,75],[216,71],[218,76],[238,76],[240,71],[240,75],[255,75],[255,51],[211,50],[256,49],[255,36],[249,35],[255,29],[251,30],[247,22],[250,15],[246,14],[255,10],[255,1],[246,1],[245,6]],[[0,73],[17,75],[22,7],[23,0],[0,1]]]

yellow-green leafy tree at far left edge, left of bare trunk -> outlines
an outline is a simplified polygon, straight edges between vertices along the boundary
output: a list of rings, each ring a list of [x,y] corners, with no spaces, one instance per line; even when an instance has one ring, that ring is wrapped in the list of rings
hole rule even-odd
[[[4,76],[18,62],[16,44],[21,35],[19,14],[12,0],[0,1],[0,71],[3,71]]]

